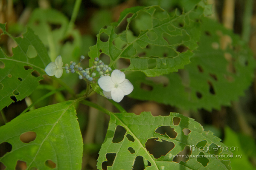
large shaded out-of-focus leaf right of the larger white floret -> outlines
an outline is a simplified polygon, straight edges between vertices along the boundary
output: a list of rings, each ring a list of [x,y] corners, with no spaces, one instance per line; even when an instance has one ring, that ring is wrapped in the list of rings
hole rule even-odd
[[[157,79],[140,73],[127,75],[134,85],[131,97],[210,111],[230,105],[230,101],[244,94],[253,80],[252,52],[239,36],[221,24],[206,17],[201,20],[202,36],[191,63],[178,73]]]

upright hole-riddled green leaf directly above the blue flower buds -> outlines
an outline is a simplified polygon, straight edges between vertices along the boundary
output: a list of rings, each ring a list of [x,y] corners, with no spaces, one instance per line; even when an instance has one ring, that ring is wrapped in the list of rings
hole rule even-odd
[[[118,23],[99,31],[97,43],[88,53],[90,65],[93,65],[94,58],[108,56],[109,66],[113,66],[119,59],[129,59],[131,64],[122,71],[142,71],[148,77],[177,71],[189,63],[192,51],[198,47],[201,24],[197,21],[203,11],[204,8],[198,5],[187,13],[171,17],[158,6],[126,9],[121,13]],[[127,25],[122,31],[124,22]],[[141,24],[138,33],[130,29],[131,24],[136,22]],[[155,52],[142,56],[138,53],[139,50],[154,46],[165,49],[166,55]],[[177,49],[180,46],[186,51]]]

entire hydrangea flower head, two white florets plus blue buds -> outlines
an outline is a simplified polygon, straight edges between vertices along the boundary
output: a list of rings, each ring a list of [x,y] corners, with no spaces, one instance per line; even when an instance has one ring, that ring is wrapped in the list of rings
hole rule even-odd
[[[79,74],[79,79],[84,79],[88,83],[96,83],[98,79],[98,84],[103,90],[103,94],[108,99],[113,99],[115,102],[120,102],[125,95],[130,94],[134,87],[128,79],[125,79],[125,74],[120,70],[112,71],[111,67],[105,65],[104,62],[99,60],[98,57],[94,59],[93,66],[90,68],[83,69],[80,64],[84,59],[84,56],[80,57],[80,62],[71,61],[70,65],[65,64],[64,69],[66,73],[77,73]],[[63,62],[61,56],[55,59],[55,62],[51,62],[45,68],[45,72],[49,76],[54,76],[60,78],[63,73]],[[112,71],[111,77],[110,72]]]

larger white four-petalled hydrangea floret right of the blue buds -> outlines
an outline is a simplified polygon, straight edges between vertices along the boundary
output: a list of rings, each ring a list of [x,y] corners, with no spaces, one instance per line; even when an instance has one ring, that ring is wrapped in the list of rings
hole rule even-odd
[[[125,74],[120,70],[114,70],[110,76],[104,76],[98,80],[99,87],[102,88],[103,94],[108,99],[120,102],[125,95],[130,94],[134,87]]]

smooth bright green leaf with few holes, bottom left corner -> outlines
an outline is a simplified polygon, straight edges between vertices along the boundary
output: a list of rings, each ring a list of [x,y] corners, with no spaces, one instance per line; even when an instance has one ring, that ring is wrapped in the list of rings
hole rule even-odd
[[[24,161],[27,169],[81,170],[83,142],[74,103],[39,108],[1,126],[0,144],[12,145],[12,150],[0,157],[6,169],[14,170],[17,161]]]

